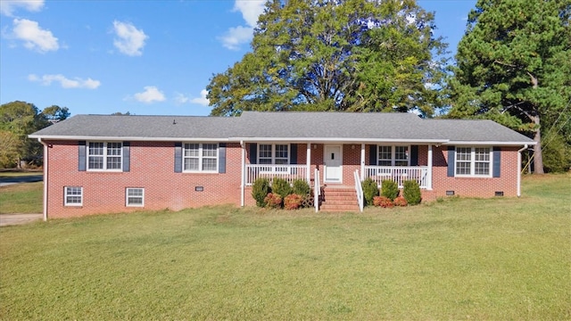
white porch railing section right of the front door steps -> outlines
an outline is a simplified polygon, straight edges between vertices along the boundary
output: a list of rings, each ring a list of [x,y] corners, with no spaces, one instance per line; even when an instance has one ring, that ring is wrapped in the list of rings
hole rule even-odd
[[[385,179],[390,179],[402,188],[404,181],[415,179],[420,188],[426,188],[427,175],[427,166],[365,166],[365,178],[372,178],[379,186]]]

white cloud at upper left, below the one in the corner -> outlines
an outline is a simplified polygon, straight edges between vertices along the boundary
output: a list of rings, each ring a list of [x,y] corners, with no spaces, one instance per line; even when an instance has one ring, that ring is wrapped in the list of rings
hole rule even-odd
[[[36,21],[27,19],[14,19],[14,28],[12,29],[13,37],[24,42],[24,46],[29,50],[35,50],[39,53],[48,51],[56,51],[60,48],[57,38],[54,37],[50,30],[41,29]]]

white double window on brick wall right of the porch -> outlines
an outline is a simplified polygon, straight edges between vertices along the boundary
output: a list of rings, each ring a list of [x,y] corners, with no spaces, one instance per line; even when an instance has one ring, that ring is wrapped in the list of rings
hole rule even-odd
[[[492,148],[456,147],[456,176],[490,177]]]

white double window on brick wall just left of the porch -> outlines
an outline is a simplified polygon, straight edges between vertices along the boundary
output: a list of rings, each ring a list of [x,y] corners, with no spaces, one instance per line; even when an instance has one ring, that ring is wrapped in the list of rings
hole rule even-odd
[[[218,144],[185,144],[185,171],[218,172]]]

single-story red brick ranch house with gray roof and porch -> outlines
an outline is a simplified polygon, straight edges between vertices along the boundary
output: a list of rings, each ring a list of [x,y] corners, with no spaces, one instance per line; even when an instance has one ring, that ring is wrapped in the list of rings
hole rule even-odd
[[[307,180],[316,210],[360,210],[360,181],[416,179],[423,200],[519,196],[534,141],[492,120],[411,113],[257,112],[240,117],[77,115],[44,145],[44,218],[255,205],[257,177]],[[316,194],[316,196],[318,196]]]

